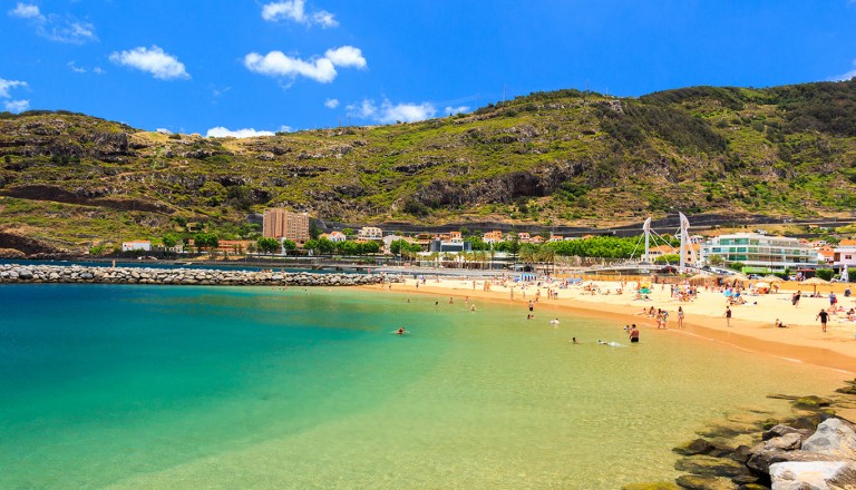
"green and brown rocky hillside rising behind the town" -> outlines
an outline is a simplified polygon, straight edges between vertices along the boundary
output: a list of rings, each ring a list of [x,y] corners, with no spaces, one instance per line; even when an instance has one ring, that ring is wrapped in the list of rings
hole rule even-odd
[[[198,223],[253,233],[283,205],[325,220],[603,226],[648,216],[849,216],[856,80],[536,92],[416,124],[250,139],[65,111],[0,114],[0,233],[81,249]]]

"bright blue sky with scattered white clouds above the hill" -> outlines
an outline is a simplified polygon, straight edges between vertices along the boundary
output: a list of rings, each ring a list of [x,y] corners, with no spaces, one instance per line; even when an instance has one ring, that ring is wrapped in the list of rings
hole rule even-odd
[[[0,2],[0,110],[202,135],[856,76],[856,0]],[[239,133],[242,131],[242,133]]]

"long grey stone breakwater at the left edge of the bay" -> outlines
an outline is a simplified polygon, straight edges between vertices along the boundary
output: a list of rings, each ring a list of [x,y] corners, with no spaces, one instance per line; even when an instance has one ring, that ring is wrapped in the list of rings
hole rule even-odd
[[[164,284],[212,286],[360,286],[399,282],[362,274],[312,274],[197,268],[89,267],[81,265],[0,265],[0,284]]]

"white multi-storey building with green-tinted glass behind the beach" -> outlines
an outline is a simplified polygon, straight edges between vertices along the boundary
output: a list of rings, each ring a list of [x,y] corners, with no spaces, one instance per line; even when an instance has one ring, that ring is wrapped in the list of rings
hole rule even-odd
[[[757,233],[720,235],[701,246],[701,262],[710,263],[718,255],[727,264],[740,262],[747,267],[768,272],[785,272],[817,264],[817,252],[797,238],[767,236]]]

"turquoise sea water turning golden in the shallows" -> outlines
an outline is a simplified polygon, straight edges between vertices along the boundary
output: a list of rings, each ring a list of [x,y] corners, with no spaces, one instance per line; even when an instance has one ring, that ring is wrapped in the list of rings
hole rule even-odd
[[[0,287],[0,488],[578,488],[833,376],[687,335],[372,291]],[[437,302],[437,304],[436,304]],[[406,325],[409,335],[391,332]],[[568,341],[577,336],[583,343]]]

